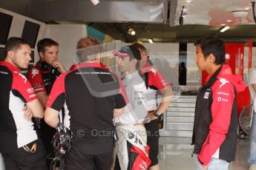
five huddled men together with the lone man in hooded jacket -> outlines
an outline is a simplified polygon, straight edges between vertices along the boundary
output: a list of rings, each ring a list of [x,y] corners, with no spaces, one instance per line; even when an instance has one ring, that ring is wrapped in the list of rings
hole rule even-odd
[[[223,41],[202,38],[195,46],[194,60],[209,77],[197,95],[193,157],[197,169],[228,169],[237,143],[236,94],[246,85],[225,64]],[[113,51],[122,80],[100,62],[102,47],[95,38],[78,41],[78,62],[69,71],[57,60],[58,47],[50,38],[39,41],[40,60],[26,78],[19,69],[31,60],[29,44],[9,38],[5,45],[0,152],[6,169],[50,169],[46,154],[53,153],[50,140],[59,122],[73,132],[67,170],[160,169],[157,119],[172,90],[145,47],[134,43]]]

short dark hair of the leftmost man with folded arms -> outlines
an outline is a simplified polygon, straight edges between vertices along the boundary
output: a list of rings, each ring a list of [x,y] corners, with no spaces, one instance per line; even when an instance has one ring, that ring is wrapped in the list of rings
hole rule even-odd
[[[16,51],[19,50],[21,45],[30,45],[27,40],[24,38],[19,38],[19,37],[10,37],[6,44],[5,44],[5,50],[4,50],[4,58],[7,57],[7,52],[8,51]]]

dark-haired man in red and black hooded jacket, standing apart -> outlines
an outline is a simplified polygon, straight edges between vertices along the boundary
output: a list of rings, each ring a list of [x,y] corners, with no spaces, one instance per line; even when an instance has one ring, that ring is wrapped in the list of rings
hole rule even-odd
[[[225,44],[206,37],[195,44],[194,61],[209,76],[197,95],[192,144],[197,169],[228,170],[237,148],[237,92],[246,88],[225,64]]]

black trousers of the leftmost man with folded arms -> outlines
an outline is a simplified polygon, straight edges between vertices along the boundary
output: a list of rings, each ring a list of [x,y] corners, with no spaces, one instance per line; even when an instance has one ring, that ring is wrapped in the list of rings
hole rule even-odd
[[[26,152],[23,147],[17,149],[15,152],[2,154],[6,170],[45,170],[46,155],[42,140],[35,140],[27,144],[29,148],[36,143],[36,152]]]

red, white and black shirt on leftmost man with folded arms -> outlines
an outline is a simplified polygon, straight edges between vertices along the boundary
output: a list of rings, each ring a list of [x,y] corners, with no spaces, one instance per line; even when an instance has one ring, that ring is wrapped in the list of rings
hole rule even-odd
[[[8,153],[37,139],[33,122],[24,119],[24,105],[36,99],[27,78],[13,64],[0,61],[0,152]]]

